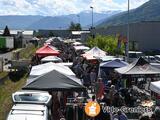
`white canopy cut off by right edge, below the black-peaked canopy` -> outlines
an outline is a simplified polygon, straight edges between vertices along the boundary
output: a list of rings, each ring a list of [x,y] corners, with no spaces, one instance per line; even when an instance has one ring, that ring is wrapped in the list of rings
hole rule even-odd
[[[160,94],[160,81],[151,82],[150,90],[157,94]]]

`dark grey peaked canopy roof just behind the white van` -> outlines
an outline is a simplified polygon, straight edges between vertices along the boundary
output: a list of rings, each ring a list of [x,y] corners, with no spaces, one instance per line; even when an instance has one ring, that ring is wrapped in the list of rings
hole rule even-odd
[[[75,76],[64,75],[56,70],[35,78],[28,83],[23,89],[27,90],[46,90],[46,91],[61,91],[75,90],[83,91],[85,87],[80,83],[80,80]]]

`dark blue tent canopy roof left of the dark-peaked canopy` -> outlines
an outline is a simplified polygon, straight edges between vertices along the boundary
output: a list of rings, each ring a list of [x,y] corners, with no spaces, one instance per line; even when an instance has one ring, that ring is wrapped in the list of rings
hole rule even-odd
[[[100,67],[121,68],[121,67],[125,67],[126,65],[128,65],[128,63],[121,61],[119,59],[115,59],[112,61],[101,63]]]

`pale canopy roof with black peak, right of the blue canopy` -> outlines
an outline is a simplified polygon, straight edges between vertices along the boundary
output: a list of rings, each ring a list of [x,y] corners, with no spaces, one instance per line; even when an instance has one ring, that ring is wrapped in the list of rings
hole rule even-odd
[[[142,57],[125,67],[115,69],[115,71],[126,75],[160,74],[160,69],[152,66]]]

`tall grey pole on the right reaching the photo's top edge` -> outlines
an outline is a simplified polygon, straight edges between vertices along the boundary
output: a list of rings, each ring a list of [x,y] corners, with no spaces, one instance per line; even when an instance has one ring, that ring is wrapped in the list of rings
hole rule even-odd
[[[130,26],[129,26],[129,23],[130,23],[130,18],[129,18],[129,15],[130,15],[130,0],[128,0],[128,19],[127,19],[127,45],[126,45],[126,57],[127,57],[127,61],[129,61],[129,31],[130,31]]]

